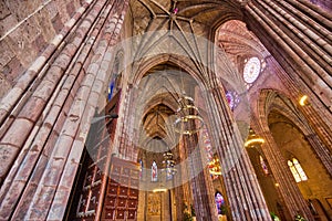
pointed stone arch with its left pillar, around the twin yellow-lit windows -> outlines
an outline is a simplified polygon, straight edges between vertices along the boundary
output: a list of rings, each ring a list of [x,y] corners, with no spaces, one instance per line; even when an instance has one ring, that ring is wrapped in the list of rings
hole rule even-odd
[[[323,150],[324,146],[319,137],[313,136],[313,129],[302,113],[297,108],[297,104],[283,93],[276,90],[262,90],[260,92],[257,108],[258,118],[253,119],[253,128],[266,139],[266,143],[262,145],[262,151],[267,157],[277,183],[279,183],[279,190],[286,202],[286,207],[292,217],[299,211],[301,211],[302,214],[311,217],[312,214],[307,206],[307,201],[301,194],[299,187],[295,185],[289,168],[284,161],[281,160],[283,157],[269,127],[269,114],[277,112],[293,124],[293,126],[298,128],[298,131],[302,133],[309,141],[311,149],[320,158],[325,169],[330,170],[331,162],[329,162],[329,156],[324,154],[326,152]],[[289,181],[286,182],[286,180]]]

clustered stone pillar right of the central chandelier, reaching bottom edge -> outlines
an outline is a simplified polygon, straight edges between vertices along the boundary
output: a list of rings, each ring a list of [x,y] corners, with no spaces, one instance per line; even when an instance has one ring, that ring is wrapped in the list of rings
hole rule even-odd
[[[212,115],[210,133],[217,145],[232,220],[271,220],[243,140],[221,92],[218,87],[211,90],[212,97],[207,97],[207,104]]]

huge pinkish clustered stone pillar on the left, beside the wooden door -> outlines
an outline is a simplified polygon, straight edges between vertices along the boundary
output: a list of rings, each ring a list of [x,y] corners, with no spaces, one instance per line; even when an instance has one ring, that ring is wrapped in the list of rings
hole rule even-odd
[[[1,101],[0,219],[63,219],[127,4],[86,1]]]

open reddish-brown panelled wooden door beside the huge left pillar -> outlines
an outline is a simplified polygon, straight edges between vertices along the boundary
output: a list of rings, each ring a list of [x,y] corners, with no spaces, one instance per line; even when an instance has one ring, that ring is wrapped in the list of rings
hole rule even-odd
[[[112,157],[116,118],[108,116],[117,114],[120,95],[121,91],[95,116],[97,122],[91,126],[90,149],[74,193],[79,202],[74,211],[71,210],[71,220],[137,219],[139,164]]]

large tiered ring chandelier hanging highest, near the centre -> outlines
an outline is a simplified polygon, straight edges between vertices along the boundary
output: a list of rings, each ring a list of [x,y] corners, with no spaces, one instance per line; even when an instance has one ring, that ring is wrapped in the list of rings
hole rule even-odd
[[[178,99],[179,107],[176,110],[177,118],[174,123],[175,131],[183,135],[193,135],[204,127],[199,109],[195,106],[194,99],[183,96]]]

